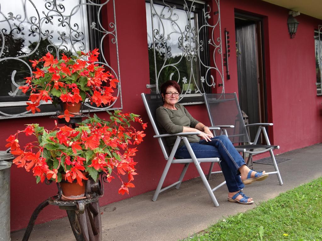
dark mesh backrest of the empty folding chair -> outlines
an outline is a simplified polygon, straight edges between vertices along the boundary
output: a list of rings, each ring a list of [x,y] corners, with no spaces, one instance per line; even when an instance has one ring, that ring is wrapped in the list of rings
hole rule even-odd
[[[227,128],[232,143],[250,142],[236,93],[204,94],[204,101],[212,126],[234,125],[235,128]]]

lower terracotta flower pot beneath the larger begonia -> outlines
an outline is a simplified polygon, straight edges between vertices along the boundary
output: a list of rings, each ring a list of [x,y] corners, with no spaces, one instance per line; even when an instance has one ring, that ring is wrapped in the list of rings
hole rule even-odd
[[[74,201],[79,199],[86,198],[85,196],[85,186],[86,186],[86,180],[83,180],[83,185],[79,185],[76,180],[74,180],[72,183],[69,183],[64,180],[65,174],[62,174],[62,181],[60,183],[61,189],[62,189],[62,197],[61,199],[64,201]]]

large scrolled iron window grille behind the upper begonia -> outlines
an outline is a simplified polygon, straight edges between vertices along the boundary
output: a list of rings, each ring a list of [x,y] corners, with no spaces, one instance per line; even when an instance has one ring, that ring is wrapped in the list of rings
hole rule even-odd
[[[33,115],[18,87],[32,75],[29,60],[47,52],[59,58],[99,48],[97,63],[120,81],[114,0],[0,0],[0,30],[0,119]],[[122,108],[120,82],[114,94],[118,99],[109,106],[85,105],[90,111]],[[56,113],[52,104],[40,108],[35,115]]]

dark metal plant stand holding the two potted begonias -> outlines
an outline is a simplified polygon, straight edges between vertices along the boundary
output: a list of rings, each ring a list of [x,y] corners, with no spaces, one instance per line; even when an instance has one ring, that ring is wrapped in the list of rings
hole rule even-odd
[[[75,128],[76,123],[81,122],[83,117],[89,117],[88,114],[84,114],[82,112],[82,109],[83,108],[81,108],[80,115],[71,117],[69,122],[66,122],[65,119],[58,119],[58,123],[68,124],[71,125],[72,128]],[[56,116],[50,116],[50,118],[57,118],[57,116],[60,114],[62,113],[58,111]],[[104,174],[105,173],[100,173],[98,182],[94,182],[91,179],[87,180],[85,186],[86,198],[81,200],[62,201],[62,189],[60,184],[56,183],[58,194],[40,203],[33,211],[22,241],[28,241],[38,214],[41,210],[48,206],[48,204],[55,205],[62,210],[66,210],[76,241],[101,241],[102,223],[100,216],[101,212],[99,210],[99,197],[103,196],[104,194],[102,183],[107,182],[106,174]],[[46,180],[46,183],[51,184],[52,181]]]

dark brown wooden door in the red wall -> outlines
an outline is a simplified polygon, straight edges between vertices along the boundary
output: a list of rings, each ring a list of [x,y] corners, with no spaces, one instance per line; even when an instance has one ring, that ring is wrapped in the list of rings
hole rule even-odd
[[[235,17],[239,103],[249,123],[266,122],[260,20]],[[250,128],[251,141],[257,128]],[[261,139],[258,144],[260,144]]]

